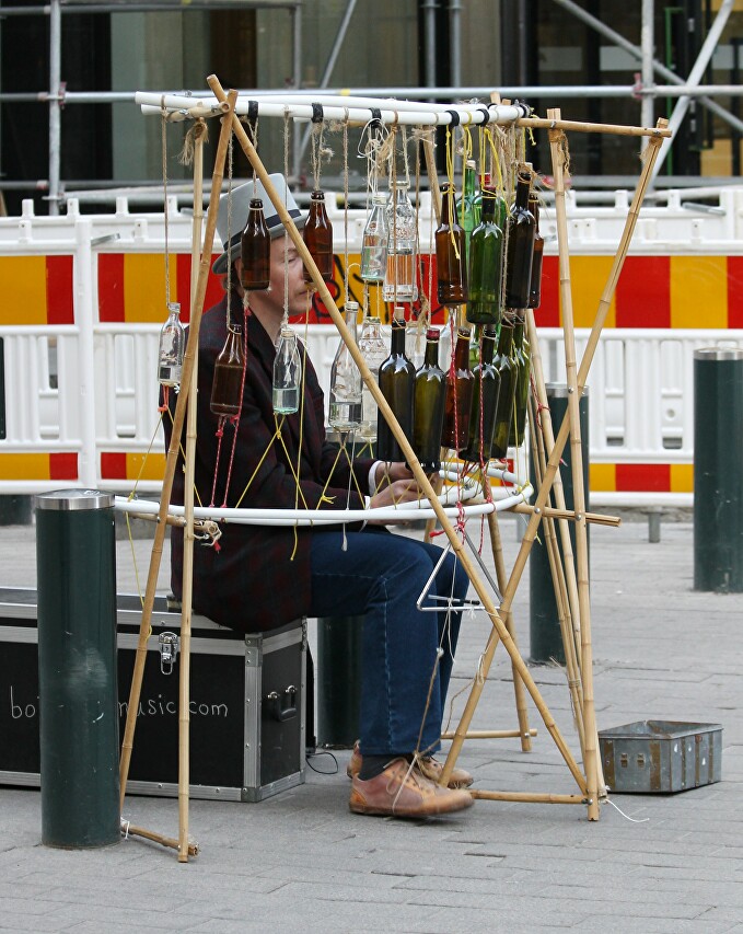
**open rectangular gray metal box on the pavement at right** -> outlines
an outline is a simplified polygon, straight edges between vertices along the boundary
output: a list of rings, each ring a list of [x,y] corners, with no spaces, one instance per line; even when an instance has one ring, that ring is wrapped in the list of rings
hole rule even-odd
[[[599,731],[604,780],[619,794],[683,792],[719,782],[722,726],[638,720]]]

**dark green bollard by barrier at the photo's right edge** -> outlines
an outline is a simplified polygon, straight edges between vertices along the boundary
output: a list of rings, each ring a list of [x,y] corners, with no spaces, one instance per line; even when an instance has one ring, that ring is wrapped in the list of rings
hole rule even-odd
[[[743,350],[694,351],[694,589],[743,592]]]

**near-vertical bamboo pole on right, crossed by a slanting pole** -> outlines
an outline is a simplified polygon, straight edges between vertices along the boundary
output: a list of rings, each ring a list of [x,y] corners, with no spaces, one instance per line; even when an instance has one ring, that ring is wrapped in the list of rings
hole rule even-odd
[[[560,119],[559,107],[547,111],[547,117]],[[570,255],[568,252],[568,219],[565,207],[565,169],[567,154],[562,147],[565,136],[560,129],[549,130],[553,177],[555,180],[555,216],[557,220],[557,244],[560,270],[560,304],[565,334],[565,366],[568,384],[568,411],[570,419],[570,458],[572,469],[572,495],[576,508],[576,556],[578,569],[578,602],[580,607],[581,680],[583,683],[583,726],[585,749],[583,768],[589,796],[589,820],[599,820],[599,734],[596,711],[593,700],[593,648],[591,644],[591,593],[589,587],[588,533],[585,528],[585,491],[583,488],[583,450],[580,428],[580,397],[578,365],[576,361],[576,332],[572,319],[572,287],[570,281]],[[605,794],[605,791],[604,791]]]

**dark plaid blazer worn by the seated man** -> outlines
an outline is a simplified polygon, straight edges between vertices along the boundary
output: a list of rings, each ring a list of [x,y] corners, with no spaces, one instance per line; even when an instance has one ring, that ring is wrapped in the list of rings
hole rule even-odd
[[[232,301],[236,302],[234,312],[240,320],[242,302],[236,297]],[[225,337],[227,296],[205,313],[199,330],[196,505],[208,506],[212,498],[218,417],[211,413],[209,403],[214,362]],[[309,509],[345,509],[347,504],[351,509],[362,508],[363,499],[357,491],[357,484],[358,489],[368,493],[372,461],[359,459],[355,462],[356,483],[351,481],[349,499],[350,468],[346,458],[338,459],[333,466],[337,449],[325,439],[323,392],[309,357],[305,358],[301,454],[300,413],[287,416],[283,422],[281,436],[286,451],[278,440],[271,442],[276,433],[271,404],[275,356],[272,342],[260,322],[251,315],[243,406],[227,505],[236,506],[237,500],[241,500],[239,505],[243,507],[274,509],[303,506]],[[171,404],[173,407],[173,400]],[[165,437],[170,445],[172,426],[170,419],[165,420]],[[217,472],[216,506],[224,503],[233,437],[234,428],[228,423]],[[298,494],[293,475],[298,454],[301,495]],[[172,496],[173,503],[178,504],[183,504],[184,492],[182,457],[178,459]],[[321,503],[332,470],[333,475]],[[251,482],[246,487],[248,480]],[[327,530],[328,527],[322,528]],[[241,632],[269,630],[306,615],[311,600],[312,534],[313,530],[307,527],[222,523],[219,547],[209,547],[198,541],[194,545],[194,610]],[[183,533],[175,528],[171,535],[171,586],[176,597],[181,597]]]

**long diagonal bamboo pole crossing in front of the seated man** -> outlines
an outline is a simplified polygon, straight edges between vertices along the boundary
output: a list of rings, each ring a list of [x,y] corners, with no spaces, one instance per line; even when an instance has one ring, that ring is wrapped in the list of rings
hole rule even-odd
[[[217,77],[212,74],[207,79],[207,81],[208,81],[209,87],[211,88],[212,92],[217,96],[217,100],[220,102],[224,101],[224,99],[225,99],[224,91],[223,91],[221,84],[219,83],[219,80],[217,79]],[[488,588],[485,587],[483,581],[479,579],[477,572],[475,569],[475,566],[469,561],[469,557],[466,553],[466,550],[465,550],[463,543],[460,541],[458,537],[456,535],[456,532],[454,531],[454,528],[450,523],[443,507],[439,503],[439,499],[438,499],[438,497],[433,491],[433,487],[431,486],[430,481],[428,480],[428,476],[426,475],[426,472],[420,466],[420,462],[418,461],[418,458],[416,457],[415,451],[410,447],[410,443],[409,443],[408,439],[406,438],[405,433],[399,427],[399,424],[398,424],[397,419],[395,418],[394,413],[390,408],[387,401],[382,395],[382,392],[381,392],[379,385],[376,384],[376,381],[374,380],[372,373],[370,372],[369,367],[367,366],[367,361],[364,360],[363,356],[359,351],[359,349],[356,345],[356,342],[352,339],[348,328],[346,327],[346,323],[343,319],[343,315],[338,312],[338,309],[337,309],[337,307],[333,300],[333,297],[332,297],[332,295],[327,288],[326,282],[324,281],[323,277],[320,275],[317,267],[316,267],[314,261],[312,260],[312,256],[310,255],[310,251],[307,250],[304,241],[302,240],[302,237],[300,235],[299,231],[297,230],[297,227],[295,227],[293,220],[291,219],[291,217],[289,216],[281,198],[279,197],[278,193],[276,192],[276,188],[274,187],[270,178],[268,177],[268,172],[266,171],[263,162],[260,161],[260,159],[258,157],[258,153],[255,150],[255,147],[253,146],[253,143],[248,139],[247,134],[245,132],[245,129],[244,129],[243,125],[241,124],[240,118],[236,115],[233,115],[233,128],[234,128],[235,136],[236,136],[236,138],[237,138],[237,140],[239,140],[239,142],[243,149],[243,152],[245,153],[248,161],[251,162],[251,165],[253,166],[257,177],[260,180],[260,183],[263,184],[263,186],[266,191],[266,194],[270,198],[271,204],[276,208],[276,211],[279,215],[279,218],[281,219],[281,222],[283,223],[288,235],[290,237],[292,243],[297,247],[297,252],[302,257],[302,261],[304,262],[306,268],[310,270],[311,276],[312,276],[312,280],[315,284],[317,291],[320,293],[320,298],[323,301],[323,303],[325,304],[325,308],[327,309],[328,313],[330,314],[330,318],[333,319],[336,327],[338,328],[338,333],[340,334],[344,343],[348,347],[350,355],[353,357],[353,361],[357,365],[357,367],[359,368],[359,372],[361,373],[363,381],[369,387],[369,391],[374,396],[376,404],[379,406],[379,410],[382,413],[382,416],[387,422],[392,434],[395,436],[397,443],[400,446],[403,454],[405,456],[405,460],[408,463],[408,465],[410,466],[413,474],[414,474],[414,476],[418,483],[418,486],[420,487],[423,495],[429,500],[433,511],[437,514],[439,522],[441,523],[441,527],[442,527],[443,531],[445,532],[446,538],[451,542],[453,552],[456,554],[457,560],[460,561],[460,563],[462,564],[462,567],[464,568],[465,573],[469,577],[469,580],[472,581],[473,587],[475,588],[477,596],[480,599],[483,608],[485,609],[485,611],[490,616],[490,620],[491,620],[491,622],[492,622],[492,624],[494,624],[494,626],[498,633],[498,636],[502,641],[503,646],[506,647],[506,650],[508,652],[508,654],[511,656],[511,658],[515,662],[519,674],[523,679],[526,689],[529,690],[530,694],[532,695],[532,699],[534,700],[534,703],[535,703],[537,710],[539,711],[539,714],[541,714],[541,716],[545,723],[545,726],[547,727],[547,730],[552,735],[553,740],[555,741],[555,745],[557,746],[560,754],[562,756],[562,758],[566,762],[566,764],[568,765],[570,773],[573,775],[578,786],[583,792],[584,785],[585,785],[585,780],[584,780],[584,777],[583,777],[583,775],[582,775],[582,773],[578,766],[578,763],[576,762],[576,760],[572,756],[572,752],[570,751],[570,748],[568,747],[562,735],[560,734],[560,731],[557,727],[557,724],[555,723],[555,719],[552,716],[552,713],[549,712],[549,708],[545,704],[544,699],[542,697],[539,690],[538,690],[536,683],[534,682],[534,679],[531,676],[529,668],[526,667],[523,658],[519,654],[518,648],[514,646],[513,639],[511,638],[510,633],[506,629],[506,625],[503,624],[503,621],[502,621],[501,616],[499,615],[498,610],[496,609],[492,600],[490,599],[490,593],[489,593]],[[480,685],[480,690],[481,690],[481,685]],[[450,752],[450,756],[451,756],[451,752]],[[449,759],[446,760],[446,762],[449,763]],[[445,771],[445,768],[446,766],[444,766],[444,771]],[[453,768],[453,765],[451,768]],[[449,781],[449,777],[451,777],[451,768],[450,768],[450,775],[446,776],[446,781]]]

